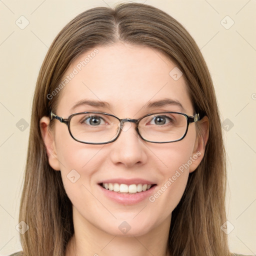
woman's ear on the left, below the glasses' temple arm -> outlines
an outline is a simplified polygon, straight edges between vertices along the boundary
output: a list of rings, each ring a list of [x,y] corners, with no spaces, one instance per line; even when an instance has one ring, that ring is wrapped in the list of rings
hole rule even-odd
[[[40,119],[41,136],[46,147],[49,165],[54,170],[60,170],[59,161],[57,159],[54,134],[49,128],[49,123],[50,123],[50,119],[47,116],[43,116]]]

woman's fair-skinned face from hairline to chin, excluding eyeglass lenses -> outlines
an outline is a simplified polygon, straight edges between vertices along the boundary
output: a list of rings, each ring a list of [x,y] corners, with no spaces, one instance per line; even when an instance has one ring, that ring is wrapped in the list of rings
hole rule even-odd
[[[93,50],[80,55],[65,72],[63,79],[68,75],[70,81],[59,92],[58,116],[83,111],[119,118],[164,111],[194,114],[182,73],[162,53],[124,43]],[[179,103],[161,104],[165,99]],[[134,123],[125,122],[114,142],[84,144],[70,136],[64,123],[54,122],[52,136],[46,132],[44,141],[49,164],[61,171],[74,222],[112,235],[142,235],[170,222],[188,174],[203,156],[194,123],[182,140],[173,143],[146,142]],[[151,184],[151,188],[117,192],[102,183],[124,184],[124,191],[129,185],[141,190],[139,184]]]

